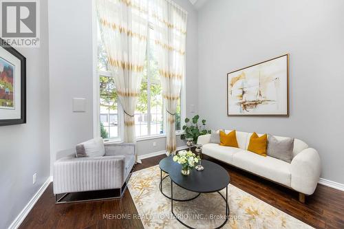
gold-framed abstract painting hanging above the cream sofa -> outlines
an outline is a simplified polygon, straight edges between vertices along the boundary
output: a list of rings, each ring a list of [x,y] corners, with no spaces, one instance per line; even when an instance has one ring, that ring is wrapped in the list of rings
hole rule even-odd
[[[227,74],[228,116],[289,116],[289,54]]]

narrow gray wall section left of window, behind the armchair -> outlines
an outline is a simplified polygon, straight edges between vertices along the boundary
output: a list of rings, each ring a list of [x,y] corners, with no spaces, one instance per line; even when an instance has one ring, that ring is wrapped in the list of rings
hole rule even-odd
[[[50,151],[93,137],[92,1],[49,1]],[[72,112],[72,98],[86,98],[85,113]],[[52,168],[51,168],[52,171]]]

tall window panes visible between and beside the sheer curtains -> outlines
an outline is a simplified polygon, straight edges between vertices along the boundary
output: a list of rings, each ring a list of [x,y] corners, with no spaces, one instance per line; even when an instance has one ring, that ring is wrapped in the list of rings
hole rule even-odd
[[[164,100],[158,74],[155,37],[153,28],[149,29],[147,55],[142,76],[140,96],[135,111],[136,137],[145,138],[162,135],[165,130]],[[100,38],[98,28],[98,78],[99,78],[99,120],[100,135],[103,138],[120,138],[122,118],[118,116],[120,104],[116,93],[114,79],[111,78],[107,54]],[[183,95],[183,94],[182,94]],[[182,131],[182,100],[178,101],[175,114],[175,129]]]

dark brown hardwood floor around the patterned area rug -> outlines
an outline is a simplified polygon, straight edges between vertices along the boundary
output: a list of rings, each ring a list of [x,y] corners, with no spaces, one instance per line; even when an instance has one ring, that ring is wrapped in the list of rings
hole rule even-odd
[[[135,170],[154,166],[163,157],[160,155],[142,160],[142,164],[138,164]],[[306,197],[305,204],[301,204],[298,193],[293,190],[210,157],[205,156],[204,159],[224,166],[230,174],[230,184],[315,228],[344,228],[344,192],[319,184],[314,195]],[[113,217],[129,214],[131,219],[104,219],[107,214]],[[20,228],[143,228],[140,219],[133,219],[133,215],[137,214],[128,190],[122,199],[54,204],[50,184]]]

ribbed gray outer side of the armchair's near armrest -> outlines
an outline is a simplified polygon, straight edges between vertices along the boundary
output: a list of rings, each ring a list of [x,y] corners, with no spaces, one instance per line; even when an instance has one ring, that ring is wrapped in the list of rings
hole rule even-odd
[[[54,194],[122,187],[125,156],[63,157],[54,162]]]

